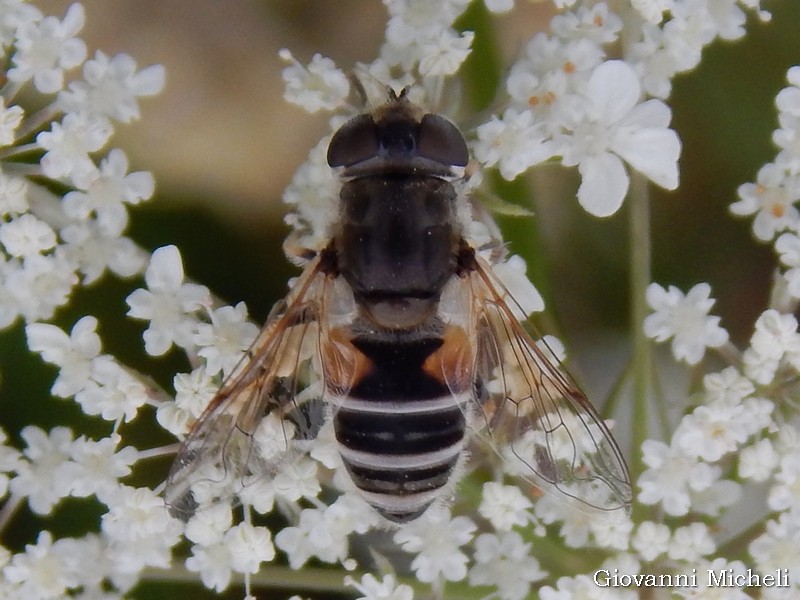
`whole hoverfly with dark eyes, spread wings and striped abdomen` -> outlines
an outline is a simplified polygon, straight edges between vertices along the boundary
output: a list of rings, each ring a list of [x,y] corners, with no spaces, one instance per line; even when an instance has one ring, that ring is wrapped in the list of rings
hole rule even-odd
[[[324,400],[350,480],[390,521],[443,495],[473,430],[545,492],[600,510],[629,505],[608,428],[467,241],[468,159],[456,126],[406,90],[333,135],[327,161],[341,190],[329,241],[306,253],[183,442],[165,492],[173,514],[190,517],[215,477],[224,487],[279,471],[285,453],[265,456],[253,438],[276,415],[313,437],[319,419],[301,395]]]

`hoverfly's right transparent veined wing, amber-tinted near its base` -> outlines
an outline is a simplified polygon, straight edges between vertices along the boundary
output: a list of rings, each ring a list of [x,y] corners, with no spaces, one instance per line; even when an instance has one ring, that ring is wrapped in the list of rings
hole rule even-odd
[[[629,508],[625,460],[608,427],[482,259],[466,278],[477,355],[477,394],[490,443],[513,475],[579,509]]]

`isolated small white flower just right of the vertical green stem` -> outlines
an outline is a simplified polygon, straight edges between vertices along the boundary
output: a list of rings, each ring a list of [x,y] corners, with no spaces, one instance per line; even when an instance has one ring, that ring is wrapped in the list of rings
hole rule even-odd
[[[718,348],[728,341],[728,332],[719,326],[719,317],[708,315],[714,302],[707,283],[695,285],[685,296],[674,286],[665,290],[651,283],[647,303],[655,312],[644,320],[645,335],[657,342],[672,338],[675,358],[697,364],[707,347]]]

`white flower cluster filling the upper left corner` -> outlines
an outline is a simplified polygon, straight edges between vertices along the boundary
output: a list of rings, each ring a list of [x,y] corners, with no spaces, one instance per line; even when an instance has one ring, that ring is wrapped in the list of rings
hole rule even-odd
[[[0,98],[0,273],[5,285],[0,326],[18,317],[49,319],[79,283],[90,284],[106,270],[139,273],[144,253],[122,235],[127,205],[153,193],[149,173],[128,173],[120,149],[107,147],[114,122],[139,116],[138,98],[157,93],[160,66],[137,71],[126,55],[98,52],[86,58],[75,35],[83,26],[80,4],[63,20],[45,17],[24,2],[5,2],[0,12],[2,43],[11,68]],[[65,87],[65,74],[82,65],[83,79]],[[17,103],[25,88],[45,107],[27,114]],[[31,154],[37,161],[29,162]],[[69,188],[62,198],[31,176]]]

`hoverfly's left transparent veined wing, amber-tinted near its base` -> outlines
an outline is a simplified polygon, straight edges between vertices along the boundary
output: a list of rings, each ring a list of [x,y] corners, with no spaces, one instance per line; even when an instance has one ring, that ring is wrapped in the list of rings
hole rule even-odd
[[[164,491],[174,516],[188,520],[199,506],[274,473],[291,438],[312,437],[321,426],[321,411],[298,399],[322,397],[320,315],[331,289],[316,260],[273,309],[178,450]]]

